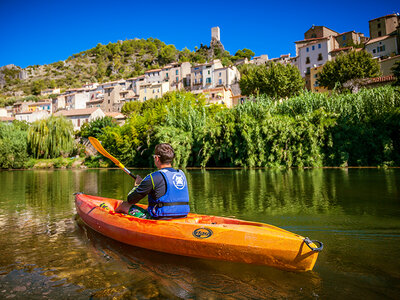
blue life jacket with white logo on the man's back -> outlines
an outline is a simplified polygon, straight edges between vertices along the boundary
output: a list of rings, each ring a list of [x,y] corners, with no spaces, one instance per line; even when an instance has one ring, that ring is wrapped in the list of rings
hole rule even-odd
[[[154,199],[148,195],[149,207],[148,211],[154,218],[183,218],[190,211],[189,207],[189,191],[185,173],[181,170],[171,172],[167,169],[162,169],[160,174],[166,182],[166,191],[163,196]]]

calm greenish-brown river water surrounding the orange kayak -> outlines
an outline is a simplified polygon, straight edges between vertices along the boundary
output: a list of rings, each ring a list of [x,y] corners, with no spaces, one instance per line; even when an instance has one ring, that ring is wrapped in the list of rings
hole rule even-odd
[[[186,173],[192,212],[322,241],[314,270],[169,255],[94,232],[73,193],[124,199],[133,182],[120,170],[1,171],[0,299],[398,299],[400,169]]]

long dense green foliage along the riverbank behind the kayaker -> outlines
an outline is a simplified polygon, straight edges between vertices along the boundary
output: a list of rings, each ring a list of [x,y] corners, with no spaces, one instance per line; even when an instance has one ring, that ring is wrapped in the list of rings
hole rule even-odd
[[[398,93],[387,86],[283,101],[262,95],[228,109],[174,92],[144,102],[100,140],[136,167],[152,167],[161,142],[172,144],[181,167],[399,166]]]

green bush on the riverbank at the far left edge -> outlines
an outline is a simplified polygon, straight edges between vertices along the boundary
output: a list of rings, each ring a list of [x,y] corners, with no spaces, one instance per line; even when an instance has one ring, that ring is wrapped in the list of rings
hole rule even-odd
[[[0,168],[24,168],[29,160],[27,132],[22,126],[0,123]]]

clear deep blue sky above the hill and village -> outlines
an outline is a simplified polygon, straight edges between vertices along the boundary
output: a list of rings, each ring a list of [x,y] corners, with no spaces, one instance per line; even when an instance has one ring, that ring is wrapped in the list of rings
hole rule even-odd
[[[42,65],[133,38],[194,50],[211,27],[231,54],[249,48],[270,58],[295,54],[313,24],[369,36],[368,20],[400,12],[400,1],[27,1],[0,0],[0,66]]]

